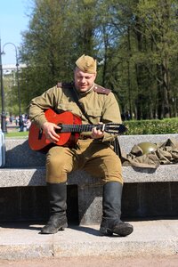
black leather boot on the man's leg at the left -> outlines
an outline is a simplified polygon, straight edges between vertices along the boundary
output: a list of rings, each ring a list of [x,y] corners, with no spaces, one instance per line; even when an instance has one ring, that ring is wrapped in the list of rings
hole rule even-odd
[[[67,209],[67,185],[66,182],[47,183],[50,219],[42,228],[42,234],[53,234],[59,230],[68,227],[66,209]]]

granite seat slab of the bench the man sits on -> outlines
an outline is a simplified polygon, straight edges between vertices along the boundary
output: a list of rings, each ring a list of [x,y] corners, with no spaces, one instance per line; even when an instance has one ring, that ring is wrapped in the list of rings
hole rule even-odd
[[[125,182],[178,182],[177,165],[158,166],[157,169],[136,168],[123,166]],[[69,174],[69,184],[78,184],[82,189],[87,186],[100,186],[98,179],[86,174],[84,171],[77,171]],[[22,167],[22,168],[1,168],[0,187],[17,186],[44,186],[44,167]]]

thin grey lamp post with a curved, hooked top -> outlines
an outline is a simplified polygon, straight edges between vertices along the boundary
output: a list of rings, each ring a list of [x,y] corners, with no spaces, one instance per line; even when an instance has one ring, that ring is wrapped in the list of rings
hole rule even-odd
[[[17,46],[11,42],[5,43],[3,46],[3,52],[1,54],[4,54],[4,47],[7,44],[12,44],[15,48],[15,60],[16,60],[16,72],[17,72],[17,88],[18,88],[18,101],[19,101],[19,125],[21,126],[23,124],[22,121],[22,115],[21,115],[21,101],[20,101],[20,79],[19,79],[19,62],[18,62],[18,53],[17,53]]]

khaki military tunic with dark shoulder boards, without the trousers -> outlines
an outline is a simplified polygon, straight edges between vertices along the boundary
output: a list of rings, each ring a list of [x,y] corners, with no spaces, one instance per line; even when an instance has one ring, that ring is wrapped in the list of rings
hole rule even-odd
[[[32,122],[42,126],[46,121],[44,109],[52,108],[57,112],[59,110],[71,111],[81,117],[82,124],[88,124],[87,118],[74,101],[71,90],[73,90],[71,85],[61,86],[60,84],[33,99],[29,106],[29,117]],[[94,125],[100,122],[104,124],[109,122],[121,123],[117,100],[109,89],[94,85],[93,90],[88,93],[78,93],[78,100]],[[103,142],[108,140],[113,140],[113,136],[104,134]]]

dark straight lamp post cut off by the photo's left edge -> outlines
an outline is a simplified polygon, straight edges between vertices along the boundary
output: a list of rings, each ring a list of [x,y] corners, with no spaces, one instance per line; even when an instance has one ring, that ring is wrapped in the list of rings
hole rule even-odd
[[[1,112],[1,129],[3,133],[7,132],[7,127],[5,123],[5,111],[4,111],[4,85],[3,85],[3,65],[2,65],[2,54],[1,51],[1,39],[0,39],[0,70],[1,70],[1,103],[2,103],[2,112]]]

